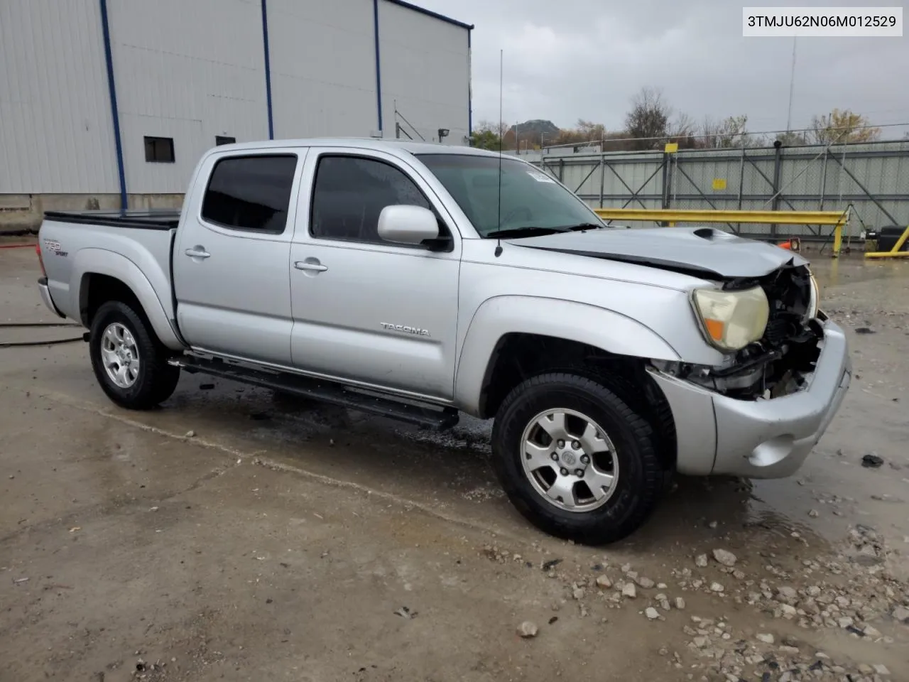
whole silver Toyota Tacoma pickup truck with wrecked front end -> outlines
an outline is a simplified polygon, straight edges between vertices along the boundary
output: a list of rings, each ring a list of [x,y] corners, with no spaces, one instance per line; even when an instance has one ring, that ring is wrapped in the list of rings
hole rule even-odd
[[[181,370],[454,426],[494,418],[514,506],[602,544],[675,472],[778,477],[849,385],[807,262],[712,228],[605,226],[551,176],[443,145],[219,146],[177,213],[48,213],[45,304],[117,405]]]

